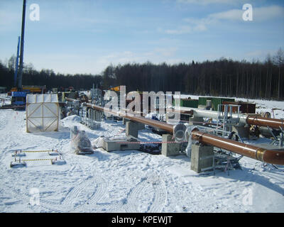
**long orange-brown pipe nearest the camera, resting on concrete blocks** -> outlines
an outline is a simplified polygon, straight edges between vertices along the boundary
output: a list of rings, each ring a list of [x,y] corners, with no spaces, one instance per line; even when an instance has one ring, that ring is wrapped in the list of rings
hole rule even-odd
[[[86,104],[86,106],[92,109],[96,109],[97,111],[106,111],[107,113],[112,114],[114,116],[120,116],[119,113],[116,113],[114,111],[107,111],[101,106],[97,106],[94,104]],[[174,131],[174,126],[167,123],[161,123],[159,121],[143,118],[141,116],[130,116],[129,114],[126,114],[126,116],[124,117],[130,119],[131,121],[136,121],[149,126],[161,128],[165,131],[168,131],[169,133],[173,133]],[[284,150],[266,150],[253,145],[239,143],[234,140],[220,138],[219,136],[212,135],[209,133],[202,133],[197,130],[192,131],[192,139],[198,140],[200,143],[212,145],[214,147],[222,148],[224,150],[229,150],[239,155],[251,157],[261,162],[267,162],[275,165],[284,165]]]

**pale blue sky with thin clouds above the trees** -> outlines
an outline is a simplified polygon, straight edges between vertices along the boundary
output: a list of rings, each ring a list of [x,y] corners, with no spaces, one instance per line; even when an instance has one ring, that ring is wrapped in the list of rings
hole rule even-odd
[[[16,55],[22,0],[0,1],[0,60]],[[31,4],[40,21],[29,19]],[[244,21],[243,5],[253,6]],[[264,60],[284,48],[284,1],[27,0],[24,62],[61,73],[127,62]]]

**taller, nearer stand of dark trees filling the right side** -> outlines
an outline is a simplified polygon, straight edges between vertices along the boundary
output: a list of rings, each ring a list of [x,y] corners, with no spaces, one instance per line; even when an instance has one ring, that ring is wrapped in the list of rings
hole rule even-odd
[[[127,91],[181,92],[252,99],[284,99],[283,60],[280,49],[265,62],[222,58],[215,61],[109,65],[103,72],[104,87],[126,85]]]

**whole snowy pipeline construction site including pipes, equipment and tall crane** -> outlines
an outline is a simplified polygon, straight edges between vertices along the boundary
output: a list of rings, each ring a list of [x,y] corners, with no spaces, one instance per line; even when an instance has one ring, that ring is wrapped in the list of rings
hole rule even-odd
[[[284,212],[283,101],[23,85],[23,2],[1,212]]]

